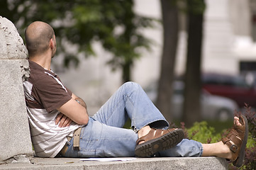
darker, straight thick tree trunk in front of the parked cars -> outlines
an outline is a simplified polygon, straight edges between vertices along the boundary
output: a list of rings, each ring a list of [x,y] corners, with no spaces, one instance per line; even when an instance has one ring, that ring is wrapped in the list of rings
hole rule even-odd
[[[201,3],[204,4],[204,0],[201,0]],[[188,14],[187,68],[182,121],[190,127],[194,122],[201,120],[201,44],[204,12],[195,13],[189,9]]]

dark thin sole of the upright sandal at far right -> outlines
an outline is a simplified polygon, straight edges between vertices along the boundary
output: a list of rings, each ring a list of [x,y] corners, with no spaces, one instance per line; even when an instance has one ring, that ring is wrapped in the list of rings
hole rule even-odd
[[[243,138],[242,146],[240,148],[240,152],[238,154],[238,159],[233,163],[233,165],[240,167],[243,165],[243,161],[245,159],[245,147],[247,143],[247,137],[248,137],[248,121],[245,115],[241,115],[243,119],[245,120],[245,137]]]

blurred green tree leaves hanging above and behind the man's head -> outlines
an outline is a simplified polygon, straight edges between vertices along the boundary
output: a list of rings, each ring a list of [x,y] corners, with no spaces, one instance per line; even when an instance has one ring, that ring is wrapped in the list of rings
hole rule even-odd
[[[113,54],[108,61],[113,69],[126,67],[127,74],[134,60],[140,57],[140,48],[150,48],[151,41],[141,29],[152,27],[152,18],[138,16],[133,11],[133,0],[3,0],[1,16],[11,20],[20,34],[33,21],[50,23],[57,35],[57,52],[65,55],[65,66],[79,64],[78,54],[70,54],[62,43],[77,45],[85,56],[94,55],[92,43],[101,42]],[[123,69],[124,70],[124,69]],[[130,79],[128,76],[127,79]]]

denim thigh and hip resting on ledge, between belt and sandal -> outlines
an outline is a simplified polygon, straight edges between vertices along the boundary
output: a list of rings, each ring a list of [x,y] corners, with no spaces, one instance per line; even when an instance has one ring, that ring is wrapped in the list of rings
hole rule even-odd
[[[134,157],[138,135],[133,130],[108,126],[89,118],[80,133],[79,151],[73,149],[73,139],[64,157]]]

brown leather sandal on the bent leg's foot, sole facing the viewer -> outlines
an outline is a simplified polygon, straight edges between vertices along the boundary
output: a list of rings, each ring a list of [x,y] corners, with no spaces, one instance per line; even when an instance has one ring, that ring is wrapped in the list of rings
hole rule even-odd
[[[184,132],[182,129],[160,130],[152,128],[147,135],[137,140],[135,155],[138,157],[149,157],[156,152],[176,146],[183,138]],[[139,145],[140,142],[143,143]]]

